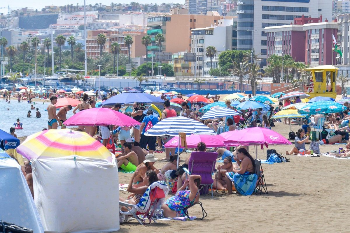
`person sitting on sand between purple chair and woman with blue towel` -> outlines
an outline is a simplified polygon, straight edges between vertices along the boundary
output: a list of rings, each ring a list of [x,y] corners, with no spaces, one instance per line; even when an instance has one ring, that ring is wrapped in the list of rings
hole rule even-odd
[[[213,188],[218,190],[229,191],[232,194],[232,181],[226,177],[226,172],[233,171],[232,159],[227,156],[223,162],[224,165],[219,165],[217,167],[218,172],[215,174],[215,179],[213,183]]]

